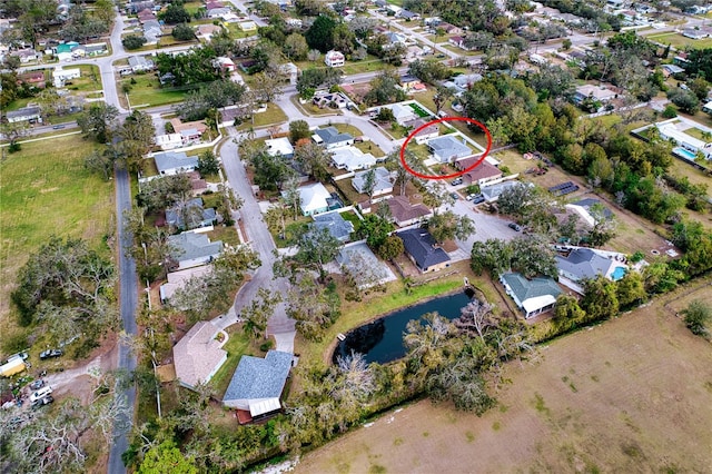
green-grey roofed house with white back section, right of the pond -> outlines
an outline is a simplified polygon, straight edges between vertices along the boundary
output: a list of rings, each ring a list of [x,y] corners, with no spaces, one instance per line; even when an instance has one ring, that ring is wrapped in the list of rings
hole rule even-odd
[[[506,273],[500,277],[507,295],[524,312],[526,319],[546,313],[556,305],[561,288],[551,278],[526,279],[516,273]]]

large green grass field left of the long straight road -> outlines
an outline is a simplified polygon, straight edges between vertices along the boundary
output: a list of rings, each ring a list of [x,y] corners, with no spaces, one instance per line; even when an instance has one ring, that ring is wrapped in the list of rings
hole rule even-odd
[[[83,158],[95,145],[78,136],[22,145],[0,162],[0,326],[10,314],[18,269],[51,235],[82,237],[108,249],[113,233],[113,184],[92,175]]]

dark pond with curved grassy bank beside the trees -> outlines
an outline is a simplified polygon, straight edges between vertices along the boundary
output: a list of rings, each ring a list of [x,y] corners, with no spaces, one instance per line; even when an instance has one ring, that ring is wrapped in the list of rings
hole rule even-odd
[[[402,358],[406,354],[403,334],[409,320],[419,319],[423,315],[433,312],[448,319],[455,319],[459,317],[459,309],[469,303],[469,298],[465,293],[442,296],[357,327],[346,334],[345,340],[338,343],[332,358],[336,363],[339,355],[345,357],[350,355],[352,350],[364,354],[368,363],[385,364]]]

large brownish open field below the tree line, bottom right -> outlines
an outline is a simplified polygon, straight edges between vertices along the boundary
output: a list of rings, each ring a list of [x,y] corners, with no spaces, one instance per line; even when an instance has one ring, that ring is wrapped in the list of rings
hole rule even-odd
[[[712,345],[664,306],[688,292],[510,364],[512,384],[482,417],[418,402],[305,455],[295,472],[708,472]]]

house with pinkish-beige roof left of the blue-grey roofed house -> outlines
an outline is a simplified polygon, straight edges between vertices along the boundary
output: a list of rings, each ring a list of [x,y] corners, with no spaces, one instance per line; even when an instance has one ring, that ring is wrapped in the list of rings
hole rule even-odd
[[[222,335],[222,340],[217,335]],[[174,366],[180,385],[196,389],[207,384],[227,361],[222,346],[228,335],[209,320],[195,324],[174,346]]]

